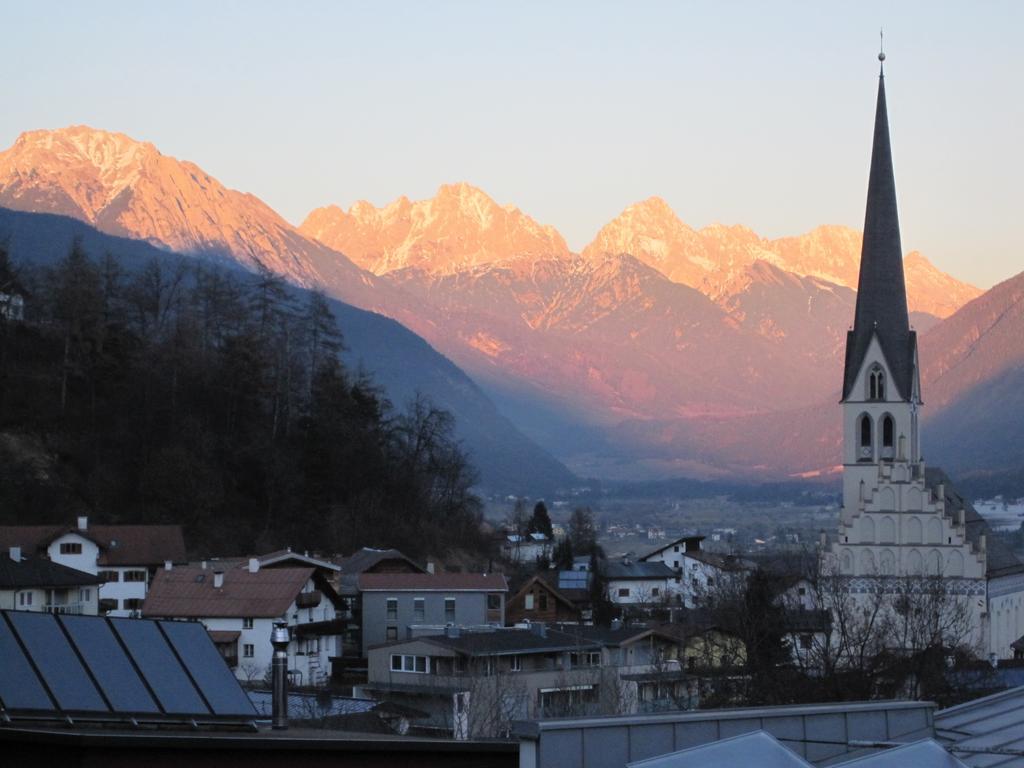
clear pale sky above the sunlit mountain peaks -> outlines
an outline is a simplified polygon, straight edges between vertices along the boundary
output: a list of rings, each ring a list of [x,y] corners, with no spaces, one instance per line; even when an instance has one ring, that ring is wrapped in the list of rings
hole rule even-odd
[[[885,28],[904,250],[1024,270],[1024,3],[0,0],[0,147],[86,124],[293,223],[468,181],[574,250],[659,196],[691,226],[860,228]]]

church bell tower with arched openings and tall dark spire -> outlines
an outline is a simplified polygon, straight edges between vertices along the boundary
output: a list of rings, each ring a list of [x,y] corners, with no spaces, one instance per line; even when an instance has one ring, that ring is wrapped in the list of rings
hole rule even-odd
[[[885,54],[879,54],[885,61]],[[884,68],[884,63],[883,63]],[[910,330],[884,69],[879,74],[864,242],[843,375],[843,520],[880,476],[920,476],[918,338]]]

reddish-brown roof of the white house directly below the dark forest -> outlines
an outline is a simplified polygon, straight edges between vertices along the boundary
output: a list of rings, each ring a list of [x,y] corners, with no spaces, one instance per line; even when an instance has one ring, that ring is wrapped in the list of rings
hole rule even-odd
[[[161,565],[166,560],[184,562],[185,542],[180,525],[2,525],[0,550],[20,547],[26,554],[40,553],[66,534],[77,534],[99,547],[100,565]]]

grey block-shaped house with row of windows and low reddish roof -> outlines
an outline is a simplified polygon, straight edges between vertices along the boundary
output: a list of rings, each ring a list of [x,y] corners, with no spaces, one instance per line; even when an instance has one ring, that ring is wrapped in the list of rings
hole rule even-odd
[[[411,634],[505,624],[508,582],[501,573],[362,573],[362,652]]]

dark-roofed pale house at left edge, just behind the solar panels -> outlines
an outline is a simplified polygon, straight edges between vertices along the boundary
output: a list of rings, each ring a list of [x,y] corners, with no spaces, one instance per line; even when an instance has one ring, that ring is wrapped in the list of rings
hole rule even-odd
[[[17,547],[0,555],[0,610],[96,615],[98,577],[44,557],[23,557]]]

